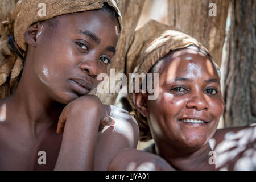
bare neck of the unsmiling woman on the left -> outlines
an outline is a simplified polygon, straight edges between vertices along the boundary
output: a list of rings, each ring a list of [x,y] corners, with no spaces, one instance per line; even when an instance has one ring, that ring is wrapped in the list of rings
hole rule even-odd
[[[57,122],[63,104],[53,101],[46,90],[32,81],[21,79],[16,92],[4,100],[7,106],[7,119],[27,127],[33,135],[37,135],[46,127]],[[34,81],[35,83],[35,81]]]

